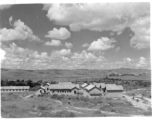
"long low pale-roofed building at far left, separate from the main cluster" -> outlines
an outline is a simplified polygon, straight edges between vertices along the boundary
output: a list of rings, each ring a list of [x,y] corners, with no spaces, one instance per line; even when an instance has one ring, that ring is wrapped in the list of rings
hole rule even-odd
[[[29,86],[3,86],[1,92],[26,92],[29,91]]]

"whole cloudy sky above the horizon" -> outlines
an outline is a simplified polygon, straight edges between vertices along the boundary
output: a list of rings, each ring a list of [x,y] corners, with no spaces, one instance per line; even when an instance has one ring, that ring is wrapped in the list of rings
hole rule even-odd
[[[1,67],[150,69],[150,3],[0,5]]]

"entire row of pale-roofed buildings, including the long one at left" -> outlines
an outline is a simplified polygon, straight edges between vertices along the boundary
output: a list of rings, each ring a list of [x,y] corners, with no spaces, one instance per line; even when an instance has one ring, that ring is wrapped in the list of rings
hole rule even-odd
[[[4,86],[1,92],[26,92],[29,86]],[[116,84],[105,83],[83,83],[73,84],[71,82],[59,82],[58,84],[45,83],[37,87],[35,95],[43,95],[45,93],[54,95],[71,95],[94,97],[122,97],[123,87]]]

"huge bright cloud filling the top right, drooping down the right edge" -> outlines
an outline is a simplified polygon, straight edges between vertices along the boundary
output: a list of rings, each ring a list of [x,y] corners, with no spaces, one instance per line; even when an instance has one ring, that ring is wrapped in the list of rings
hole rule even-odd
[[[110,30],[121,34],[129,27],[135,33],[130,41],[137,49],[149,47],[150,3],[81,3],[44,5],[47,17],[72,31],[89,29]],[[140,23],[138,21],[145,21]],[[147,19],[147,20],[145,20]],[[142,33],[142,34],[140,34]]]

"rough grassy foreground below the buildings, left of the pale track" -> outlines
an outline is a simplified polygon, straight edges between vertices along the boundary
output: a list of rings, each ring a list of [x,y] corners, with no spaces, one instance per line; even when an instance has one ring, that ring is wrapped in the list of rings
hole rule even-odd
[[[110,99],[44,95],[26,97],[26,93],[2,93],[1,116],[3,118],[32,117],[106,117],[152,115],[151,109],[134,106],[126,98]]]

